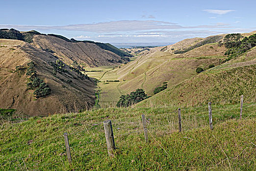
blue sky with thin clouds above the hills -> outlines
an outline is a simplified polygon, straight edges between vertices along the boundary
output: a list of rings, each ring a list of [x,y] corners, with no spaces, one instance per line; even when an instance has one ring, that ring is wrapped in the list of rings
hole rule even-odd
[[[256,30],[256,0],[1,0],[0,28],[103,43],[175,43]]]

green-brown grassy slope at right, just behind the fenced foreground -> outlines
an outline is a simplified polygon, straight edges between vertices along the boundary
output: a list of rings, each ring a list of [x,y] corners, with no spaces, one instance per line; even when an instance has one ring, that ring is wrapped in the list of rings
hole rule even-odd
[[[256,101],[256,48],[178,85],[169,87],[138,106],[200,105],[207,101],[233,102],[244,94],[245,101]]]

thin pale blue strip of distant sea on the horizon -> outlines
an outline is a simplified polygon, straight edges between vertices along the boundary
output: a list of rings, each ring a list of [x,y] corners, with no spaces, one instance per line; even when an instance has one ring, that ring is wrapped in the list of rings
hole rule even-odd
[[[118,48],[130,48],[132,46],[167,46],[174,43],[110,43]]]

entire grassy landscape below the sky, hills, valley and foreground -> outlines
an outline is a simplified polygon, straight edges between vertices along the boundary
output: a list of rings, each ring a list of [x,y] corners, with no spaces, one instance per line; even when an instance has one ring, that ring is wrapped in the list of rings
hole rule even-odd
[[[254,34],[231,48],[217,35],[135,57],[56,36],[0,39],[0,170],[254,170],[256,47],[244,49]]]

